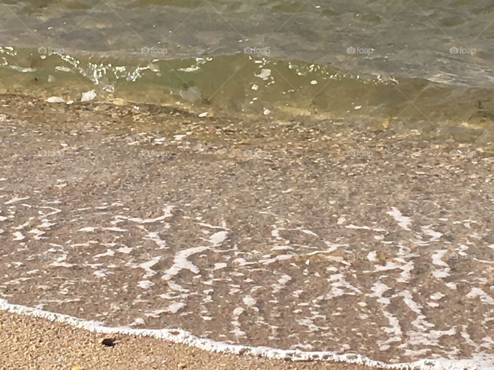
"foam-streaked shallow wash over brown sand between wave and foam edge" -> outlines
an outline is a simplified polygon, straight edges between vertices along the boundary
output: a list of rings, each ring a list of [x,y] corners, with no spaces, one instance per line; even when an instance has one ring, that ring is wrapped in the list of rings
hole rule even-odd
[[[0,298],[386,363],[492,356],[492,133],[0,109]]]

